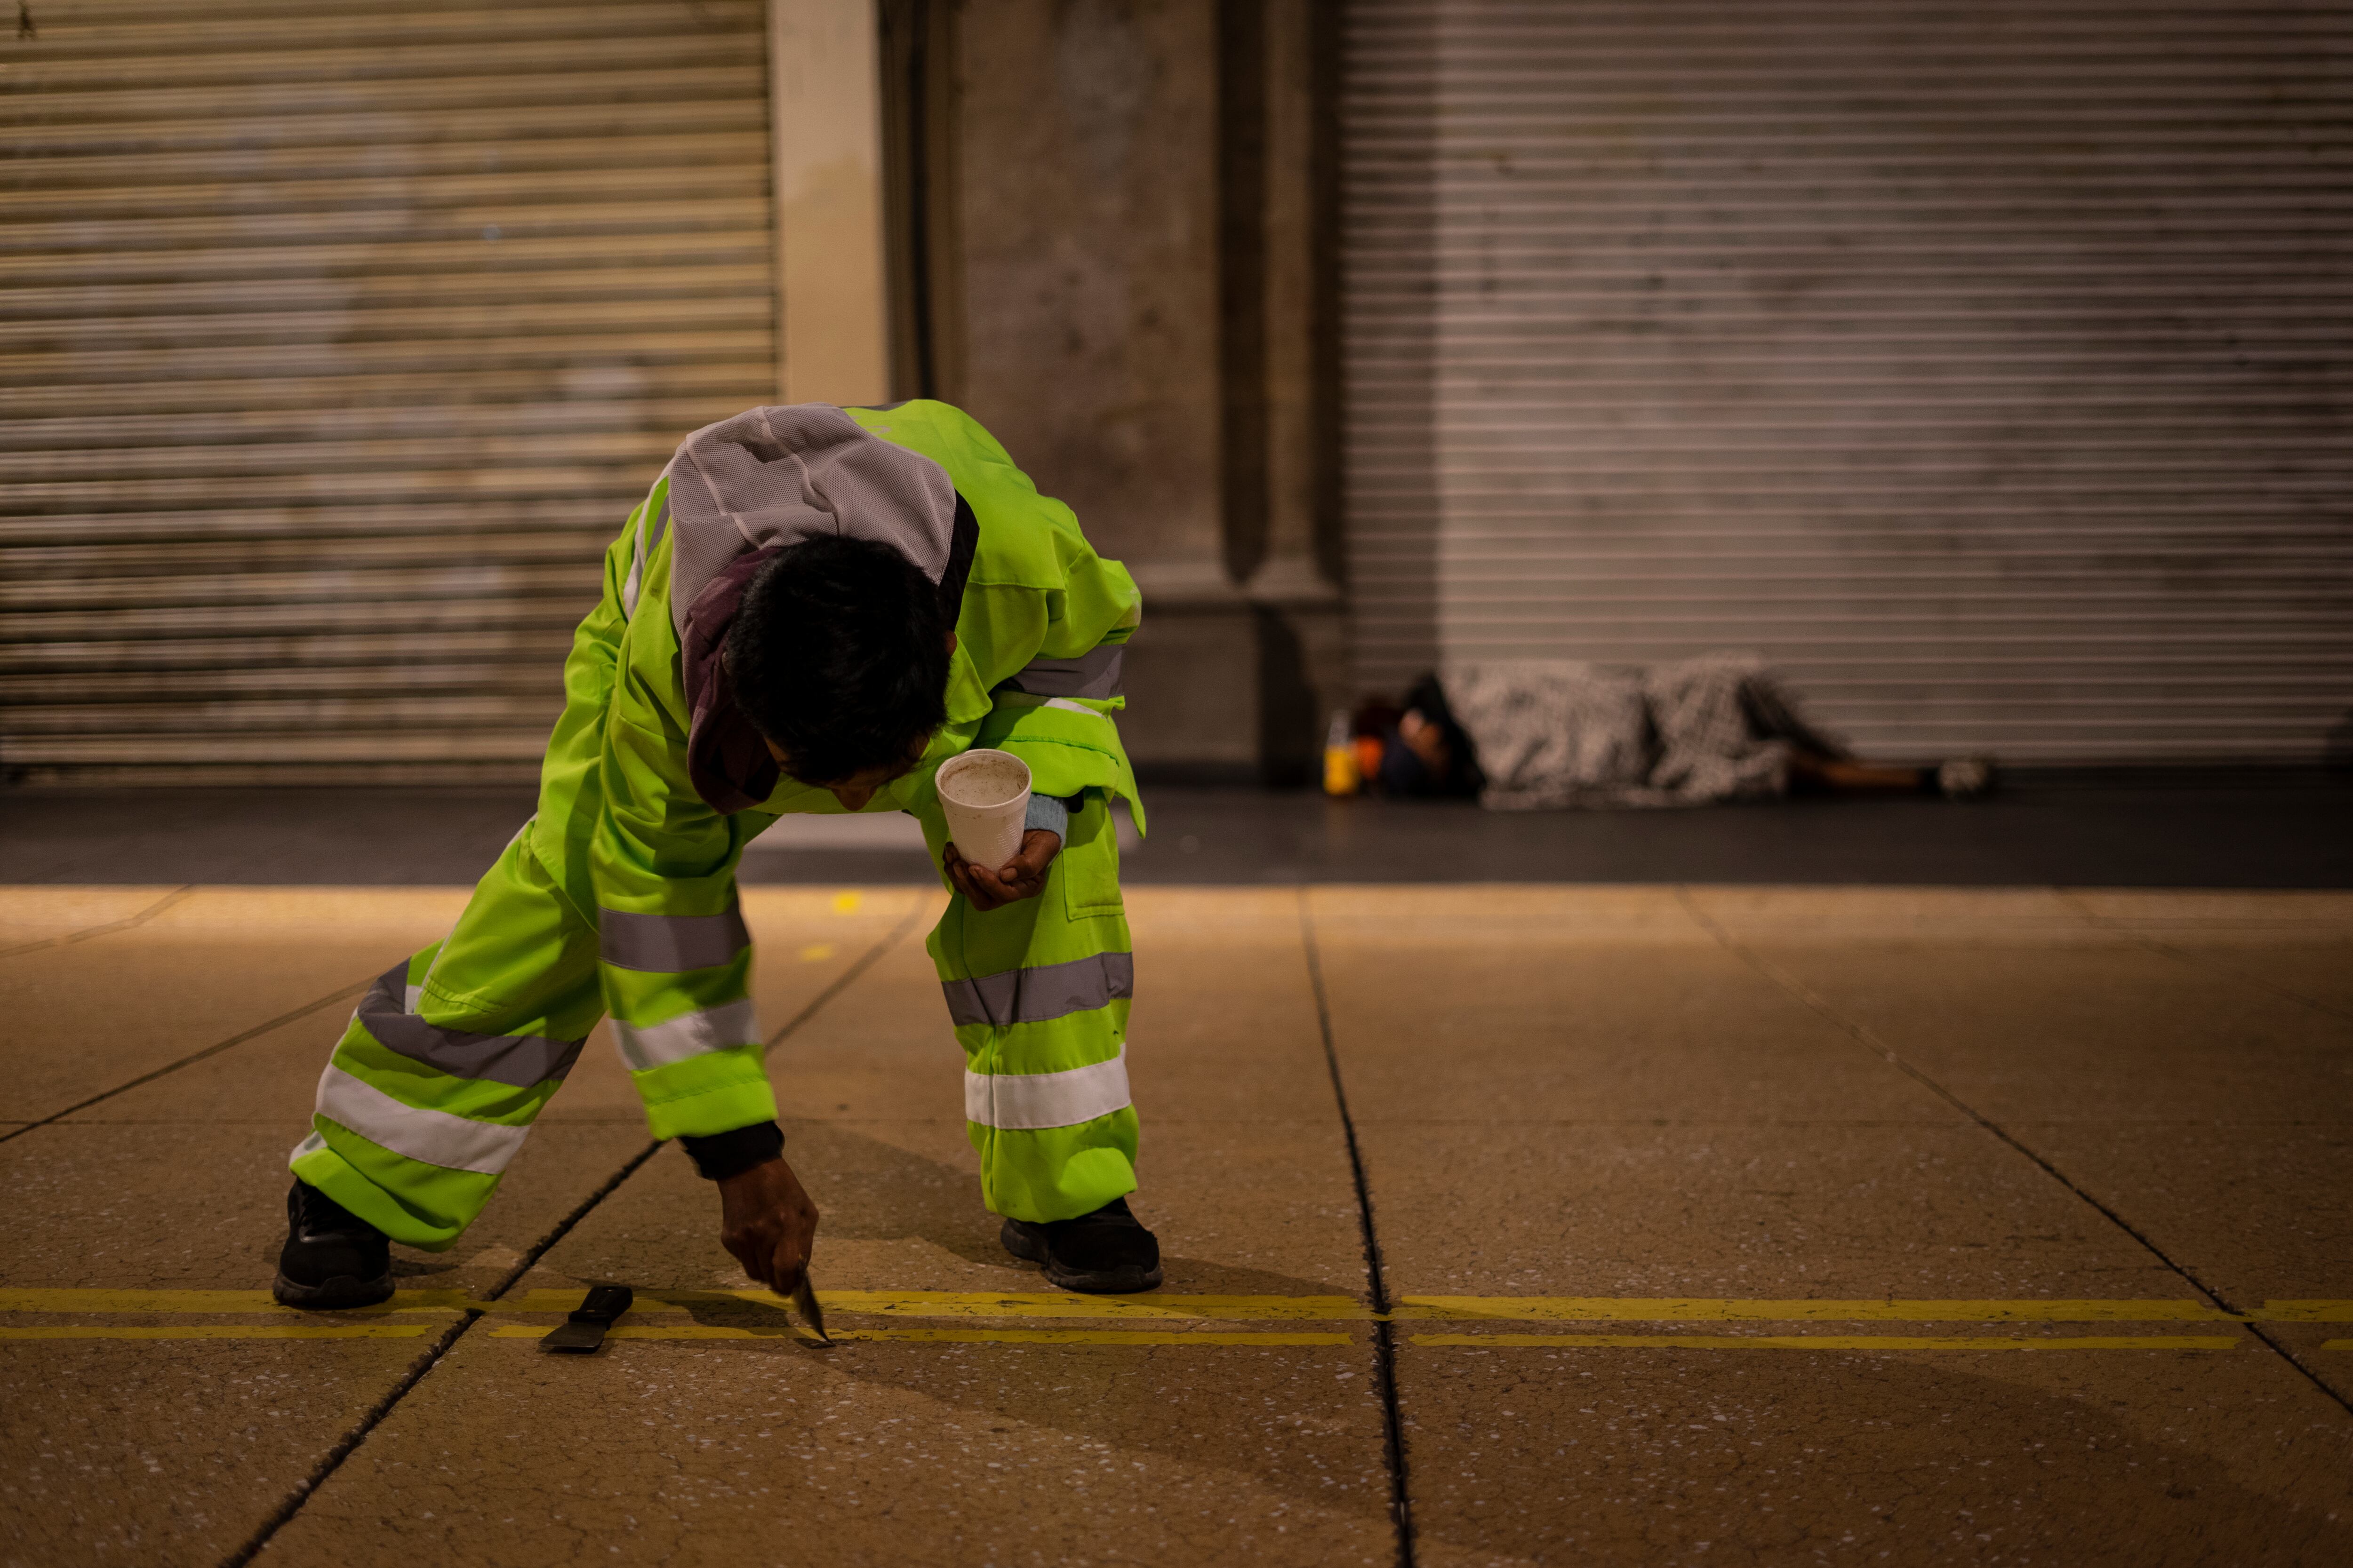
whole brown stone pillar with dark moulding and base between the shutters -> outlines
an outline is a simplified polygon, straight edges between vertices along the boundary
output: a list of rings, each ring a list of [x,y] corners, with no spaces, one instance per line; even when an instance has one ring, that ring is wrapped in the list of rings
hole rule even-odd
[[[1337,691],[1308,16],[974,0],[932,28],[934,386],[1144,585],[1122,729],[1160,776],[1297,778]]]

